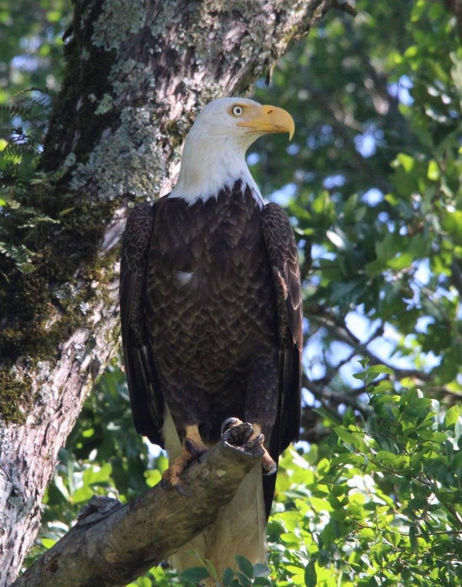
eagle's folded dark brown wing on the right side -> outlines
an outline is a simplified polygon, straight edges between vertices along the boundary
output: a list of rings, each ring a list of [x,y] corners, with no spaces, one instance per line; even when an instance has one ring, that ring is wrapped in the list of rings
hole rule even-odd
[[[292,441],[300,437],[301,350],[303,306],[297,245],[287,215],[274,203],[261,212],[277,298],[279,335],[279,403],[271,433],[269,452],[277,460]]]

